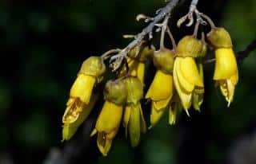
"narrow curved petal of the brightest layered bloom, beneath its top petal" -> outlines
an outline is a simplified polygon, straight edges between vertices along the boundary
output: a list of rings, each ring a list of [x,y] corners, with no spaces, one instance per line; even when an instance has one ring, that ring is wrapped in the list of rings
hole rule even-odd
[[[186,92],[192,92],[194,89],[194,84],[190,84],[185,77],[182,74],[181,64],[182,64],[182,58],[177,57],[175,60],[176,69],[174,71],[177,72],[178,81],[180,81],[181,87],[186,90]]]

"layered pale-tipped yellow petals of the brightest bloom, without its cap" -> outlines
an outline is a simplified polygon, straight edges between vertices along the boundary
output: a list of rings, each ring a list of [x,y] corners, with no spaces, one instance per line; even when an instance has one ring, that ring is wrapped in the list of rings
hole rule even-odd
[[[204,88],[194,58],[176,57],[174,61],[174,85],[182,102],[182,107],[187,111],[192,103],[194,89]]]

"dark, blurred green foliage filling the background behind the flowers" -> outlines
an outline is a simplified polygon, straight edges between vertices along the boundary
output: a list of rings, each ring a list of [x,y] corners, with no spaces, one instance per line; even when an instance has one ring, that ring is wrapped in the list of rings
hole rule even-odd
[[[217,25],[230,31],[236,51],[245,49],[256,38],[256,1],[226,1],[217,7],[218,15],[213,14],[216,6],[211,10],[211,2],[204,2],[199,10],[206,14],[210,10],[219,19]],[[164,4],[163,0],[1,1],[0,50],[5,58],[0,69],[0,163],[3,159],[42,163],[51,147],[65,145],[60,142],[62,113],[82,61],[125,46],[129,40],[122,34],[138,33],[145,26],[135,16],[154,15]],[[230,145],[256,129],[255,61],[254,51],[240,65],[231,107],[214,88],[212,65],[206,71],[202,113],[192,113],[190,118],[181,115],[173,127],[165,115],[134,150],[121,131],[110,154],[95,163],[188,163],[193,159],[222,163]],[[149,110],[144,111],[148,117]]]

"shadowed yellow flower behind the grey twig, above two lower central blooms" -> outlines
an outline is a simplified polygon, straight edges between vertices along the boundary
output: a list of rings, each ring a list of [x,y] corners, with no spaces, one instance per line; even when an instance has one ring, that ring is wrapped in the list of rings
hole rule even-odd
[[[137,76],[144,84],[145,76],[145,62],[148,57],[151,56],[153,51],[145,45],[138,45],[130,51],[128,57],[126,58],[129,72],[131,76]],[[119,77],[126,75],[126,66],[122,67]]]

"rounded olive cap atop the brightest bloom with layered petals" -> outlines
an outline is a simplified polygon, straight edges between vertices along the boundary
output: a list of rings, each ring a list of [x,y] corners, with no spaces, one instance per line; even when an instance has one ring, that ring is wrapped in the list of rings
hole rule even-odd
[[[178,41],[177,56],[178,57],[198,57],[202,52],[202,41],[193,36],[183,37]]]

